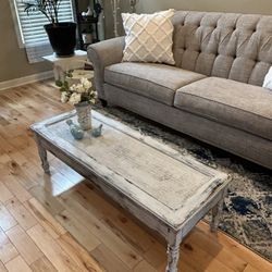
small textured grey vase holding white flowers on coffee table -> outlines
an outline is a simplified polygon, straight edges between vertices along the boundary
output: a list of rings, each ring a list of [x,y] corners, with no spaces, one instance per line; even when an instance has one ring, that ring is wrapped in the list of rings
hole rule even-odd
[[[91,107],[88,102],[75,104],[77,122],[83,131],[91,129]]]

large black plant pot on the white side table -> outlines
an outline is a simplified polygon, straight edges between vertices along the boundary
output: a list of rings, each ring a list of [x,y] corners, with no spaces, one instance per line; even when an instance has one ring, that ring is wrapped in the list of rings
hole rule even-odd
[[[71,57],[76,46],[76,24],[58,23],[45,25],[53,51],[58,57]]]

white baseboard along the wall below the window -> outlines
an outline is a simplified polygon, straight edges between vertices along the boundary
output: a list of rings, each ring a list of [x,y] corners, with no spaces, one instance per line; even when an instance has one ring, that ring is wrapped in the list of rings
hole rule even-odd
[[[20,78],[14,78],[7,82],[0,82],[0,90],[18,87],[25,84],[30,84],[39,81],[45,81],[53,77],[53,72],[48,71],[39,74],[28,75]]]

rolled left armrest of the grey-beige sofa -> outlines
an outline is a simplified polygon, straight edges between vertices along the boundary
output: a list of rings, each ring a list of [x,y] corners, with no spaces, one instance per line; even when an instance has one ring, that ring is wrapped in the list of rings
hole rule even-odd
[[[104,69],[111,64],[119,63],[123,58],[125,38],[118,37],[104,40],[88,47],[88,59],[92,62],[95,70],[95,85],[98,97],[104,99]]]

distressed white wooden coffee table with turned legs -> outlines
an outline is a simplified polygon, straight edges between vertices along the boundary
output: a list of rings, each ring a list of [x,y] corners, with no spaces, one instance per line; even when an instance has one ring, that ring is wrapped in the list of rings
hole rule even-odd
[[[75,112],[32,126],[45,172],[50,151],[160,233],[168,242],[166,271],[176,272],[180,244],[209,210],[217,231],[230,177],[95,111],[102,136],[74,140],[67,119],[76,120]]]

